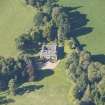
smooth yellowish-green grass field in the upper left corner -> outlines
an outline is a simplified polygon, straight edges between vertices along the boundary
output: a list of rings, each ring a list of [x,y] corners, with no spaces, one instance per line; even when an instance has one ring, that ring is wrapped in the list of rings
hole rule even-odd
[[[34,9],[24,0],[0,0],[0,55],[16,56],[14,39],[32,26]]]

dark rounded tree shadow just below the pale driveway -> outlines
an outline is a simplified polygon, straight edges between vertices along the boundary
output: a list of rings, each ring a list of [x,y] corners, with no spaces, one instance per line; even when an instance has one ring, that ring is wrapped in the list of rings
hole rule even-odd
[[[53,74],[54,74],[53,70],[38,70],[35,77],[37,81],[40,81]]]

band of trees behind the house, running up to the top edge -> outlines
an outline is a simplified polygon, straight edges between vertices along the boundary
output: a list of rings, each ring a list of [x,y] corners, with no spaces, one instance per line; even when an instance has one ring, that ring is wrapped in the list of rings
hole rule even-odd
[[[29,31],[16,38],[16,46],[22,52],[38,52],[43,43],[51,41],[63,45],[64,40],[70,38],[69,15],[55,0],[47,0],[37,10],[33,22],[34,26]]]

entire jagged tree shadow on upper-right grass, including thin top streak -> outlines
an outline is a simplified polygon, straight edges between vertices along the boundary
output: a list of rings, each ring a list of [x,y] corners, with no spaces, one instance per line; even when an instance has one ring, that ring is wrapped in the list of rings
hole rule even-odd
[[[77,10],[81,7],[63,7],[63,10],[69,14],[70,33],[68,37],[72,36],[77,42],[77,46],[82,50],[86,45],[81,45],[77,37],[91,33],[93,28],[86,26],[90,20],[87,19],[87,14],[82,14]]]

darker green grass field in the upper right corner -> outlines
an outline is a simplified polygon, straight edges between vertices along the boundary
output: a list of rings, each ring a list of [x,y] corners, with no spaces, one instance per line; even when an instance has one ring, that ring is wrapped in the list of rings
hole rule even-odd
[[[87,14],[90,20],[87,27],[93,31],[78,37],[80,43],[86,44],[86,49],[94,54],[105,54],[105,0],[60,0],[62,4],[79,7],[77,11]]]

